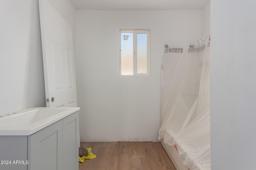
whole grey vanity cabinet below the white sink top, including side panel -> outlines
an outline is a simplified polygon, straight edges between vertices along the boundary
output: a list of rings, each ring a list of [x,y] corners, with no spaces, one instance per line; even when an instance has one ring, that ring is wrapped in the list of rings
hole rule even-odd
[[[78,170],[78,117],[76,111],[28,136],[0,136],[0,170]]]

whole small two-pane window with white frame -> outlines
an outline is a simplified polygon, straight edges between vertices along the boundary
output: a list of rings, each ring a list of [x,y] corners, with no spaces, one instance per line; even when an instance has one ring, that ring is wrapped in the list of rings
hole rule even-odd
[[[150,75],[149,29],[120,29],[120,74]]]

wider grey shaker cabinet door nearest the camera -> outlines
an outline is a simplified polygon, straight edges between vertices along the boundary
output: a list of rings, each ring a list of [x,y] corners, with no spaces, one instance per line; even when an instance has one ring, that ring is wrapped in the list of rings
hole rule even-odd
[[[28,137],[28,170],[62,170],[62,120]]]

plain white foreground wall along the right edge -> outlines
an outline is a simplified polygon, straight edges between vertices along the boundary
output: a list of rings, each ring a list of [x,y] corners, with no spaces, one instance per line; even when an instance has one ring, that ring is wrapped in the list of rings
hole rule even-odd
[[[211,1],[212,170],[256,167],[256,1]]]

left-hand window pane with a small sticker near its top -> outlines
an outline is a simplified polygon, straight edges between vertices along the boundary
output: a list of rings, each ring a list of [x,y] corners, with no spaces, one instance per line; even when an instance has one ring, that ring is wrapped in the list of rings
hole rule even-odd
[[[133,75],[133,33],[121,33],[121,75]]]

